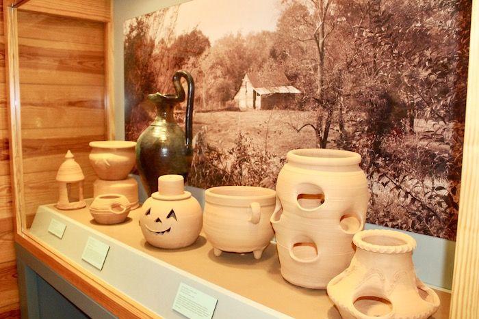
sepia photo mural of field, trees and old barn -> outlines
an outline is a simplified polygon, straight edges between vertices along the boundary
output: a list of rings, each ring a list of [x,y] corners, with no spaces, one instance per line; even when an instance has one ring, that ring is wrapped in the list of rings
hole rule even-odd
[[[469,0],[193,0],[133,18],[126,139],[187,70],[190,185],[274,188],[289,150],[352,150],[368,222],[454,240],[470,20]]]

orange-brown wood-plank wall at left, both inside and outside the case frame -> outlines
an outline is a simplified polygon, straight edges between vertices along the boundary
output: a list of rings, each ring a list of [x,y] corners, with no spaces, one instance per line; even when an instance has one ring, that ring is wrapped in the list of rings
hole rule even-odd
[[[6,1],[6,0],[5,0]],[[0,10],[3,0],[0,0]],[[95,179],[88,142],[109,136],[105,48],[110,0],[30,0],[18,9],[18,55],[25,206],[57,200],[55,175],[66,150]],[[0,12],[0,318],[19,316],[10,186],[5,33]]]

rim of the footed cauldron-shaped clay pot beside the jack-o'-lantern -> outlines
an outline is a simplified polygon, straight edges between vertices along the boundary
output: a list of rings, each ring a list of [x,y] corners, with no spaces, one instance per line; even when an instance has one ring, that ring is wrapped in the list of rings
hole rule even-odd
[[[234,191],[250,191],[251,195],[234,195]],[[231,191],[231,195],[225,195],[220,191]],[[251,202],[271,201],[276,203],[276,191],[259,186],[217,186],[205,191],[206,202],[213,202],[224,206],[249,206]]]

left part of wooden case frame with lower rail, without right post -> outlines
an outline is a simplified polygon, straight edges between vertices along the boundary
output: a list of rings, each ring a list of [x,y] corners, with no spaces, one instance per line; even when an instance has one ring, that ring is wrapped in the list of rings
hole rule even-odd
[[[40,0],[39,5],[50,4],[51,0]],[[31,1],[32,3],[34,1]],[[62,10],[62,4],[68,1],[51,1],[55,3],[51,7],[57,7],[57,10],[48,8],[40,9],[41,12],[54,14],[57,16],[66,16],[72,18],[84,18],[94,20],[105,24],[105,128],[107,137],[114,139],[114,107],[113,107],[113,19],[112,10],[109,17],[92,16],[86,13]],[[70,1],[74,2],[74,1]],[[83,5],[90,1],[77,1]],[[94,2],[94,1],[93,1]],[[18,33],[17,33],[17,10],[22,5],[29,3],[29,0],[4,0],[3,18],[5,27],[5,76],[7,86],[7,109],[9,117],[9,142],[10,142],[10,172],[12,183],[12,197],[14,210],[14,239],[18,245],[27,249],[38,260],[43,262],[52,271],[69,281],[81,292],[90,296],[96,303],[105,307],[108,311],[118,316],[118,318],[156,318],[148,309],[135,303],[121,292],[101,285],[89,273],[81,270],[64,260],[62,256],[55,255],[46,249],[40,242],[37,242],[29,236],[26,230],[25,220],[25,191],[23,182],[23,156],[21,139],[21,102],[20,102],[20,82],[18,66]],[[110,8],[112,4],[110,1]],[[24,308],[22,307],[22,311]]]

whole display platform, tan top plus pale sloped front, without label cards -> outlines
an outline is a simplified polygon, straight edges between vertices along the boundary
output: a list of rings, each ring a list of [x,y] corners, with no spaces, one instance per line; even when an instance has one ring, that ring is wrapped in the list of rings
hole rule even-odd
[[[40,206],[30,232],[165,318],[183,318],[171,309],[180,281],[218,299],[213,318],[341,318],[326,290],[300,288],[281,277],[274,245],[260,260],[252,253],[216,257],[203,234],[190,247],[159,249],[144,240],[138,223],[140,213],[140,209],[131,211],[127,221],[118,225],[99,225],[87,208],[61,211]],[[52,218],[67,225],[61,240],[47,231]],[[102,271],[81,260],[88,236],[111,247]],[[437,294],[441,307],[434,318],[448,318],[450,294]]]

